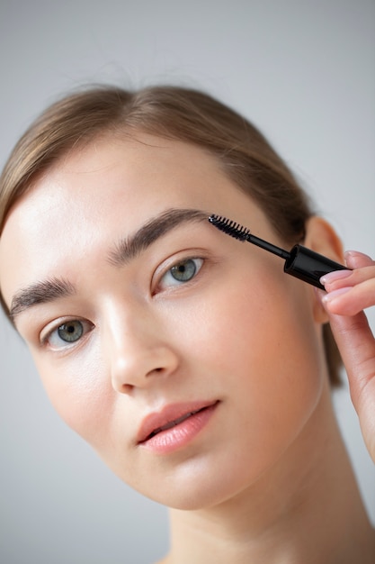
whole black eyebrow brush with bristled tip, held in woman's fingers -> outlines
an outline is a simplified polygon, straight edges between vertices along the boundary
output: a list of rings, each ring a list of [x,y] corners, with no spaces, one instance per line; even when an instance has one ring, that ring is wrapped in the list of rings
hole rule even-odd
[[[281,257],[281,259],[285,259],[284,272],[322,290],[325,289],[319,282],[322,276],[334,270],[349,269],[335,262],[335,260],[327,259],[324,255],[320,255],[314,250],[303,247],[303,245],[294,245],[291,250],[276,247],[276,245],[272,245],[272,243],[268,241],[255,237],[255,235],[252,235],[250,230],[243,225],[235,223],[221,215],[212,214],[208,219],[209,222],[220,231],[227,233],[238,241],[253,243],[257,247],[261,247],[261,249],[268,250],[272,252],[272,254]]]

